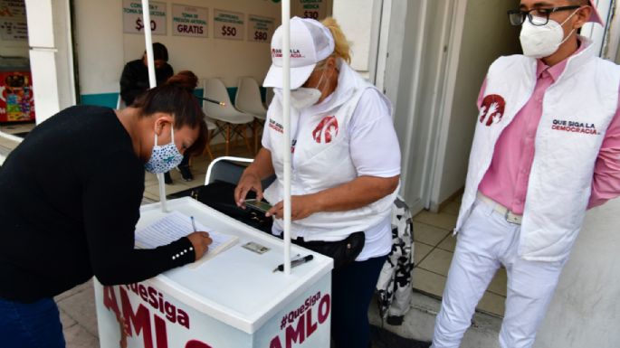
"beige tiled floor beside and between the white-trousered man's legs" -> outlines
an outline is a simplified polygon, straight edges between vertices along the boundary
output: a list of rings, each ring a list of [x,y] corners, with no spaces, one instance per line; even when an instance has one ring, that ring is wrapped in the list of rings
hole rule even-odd
[[[415,268],[414,288],[441,297],[452,261],[460,199],[449,203],[442,212],[420,212],[414,218]],[[502,316],[506,300],[506,269],[500,268],[478,304],[479,311]]]

